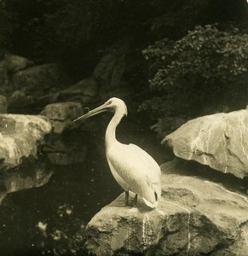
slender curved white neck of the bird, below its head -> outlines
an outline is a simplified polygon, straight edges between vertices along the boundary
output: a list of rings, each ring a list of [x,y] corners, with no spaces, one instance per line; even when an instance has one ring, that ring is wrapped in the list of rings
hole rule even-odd
[[[123,118],[122,113],[118,113],[116,111],[110,120],[109,124],[107,125],[107,131],[105,134],[105,143],[106,143],[106,149],[110,147],[112,143],[117,142],[115,131],[116,127],[119,124],[120,120]]]

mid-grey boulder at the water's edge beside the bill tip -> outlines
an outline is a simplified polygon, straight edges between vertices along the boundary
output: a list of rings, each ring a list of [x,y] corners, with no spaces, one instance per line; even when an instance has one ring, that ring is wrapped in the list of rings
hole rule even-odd
[[[50,119],[54,133],[61,134],[74,128],[77,124],[72,120],[77,119],[83,112],[79,102],[59,102],[47,105],[41,114]]]

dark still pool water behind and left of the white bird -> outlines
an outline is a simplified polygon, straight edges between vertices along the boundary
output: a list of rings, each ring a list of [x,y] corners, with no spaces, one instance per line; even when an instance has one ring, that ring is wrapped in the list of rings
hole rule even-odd
[[[51,166],[54,174],[49,183],[7,196],[1,206],[0,255],[83,254],[85,225],[122,193],[104,154],[103,137],[109,119],[101,117],[95,131],[69,134],[84,137],[87,143],[83,163]],[[141,146],[159,164],[165,160],[155,134],[137,119],[123,120],[117,137],[122,143]]]

